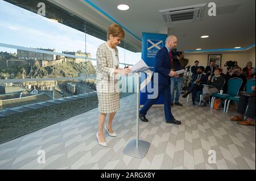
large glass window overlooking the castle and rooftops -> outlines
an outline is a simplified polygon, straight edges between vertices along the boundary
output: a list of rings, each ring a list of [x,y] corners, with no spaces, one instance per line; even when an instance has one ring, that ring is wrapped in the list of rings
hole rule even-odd
[[[104,40],[85,33],[87,24],[81,31],[0,0],[0,143],[97,108]],[[118,49],[121,67],[141,58]]]

